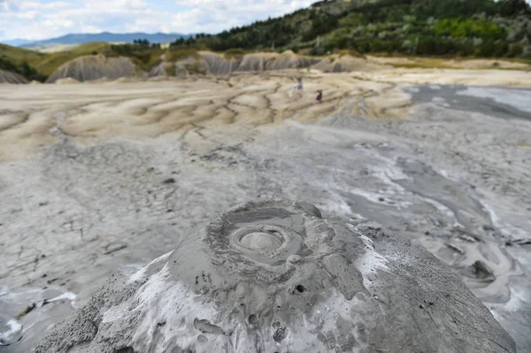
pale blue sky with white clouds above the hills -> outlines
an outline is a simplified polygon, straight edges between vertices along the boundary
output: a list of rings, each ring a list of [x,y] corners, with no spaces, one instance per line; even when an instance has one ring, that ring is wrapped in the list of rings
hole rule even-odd
[[[0,41],[68,34],[219,33],[317,0],[0,0]]]

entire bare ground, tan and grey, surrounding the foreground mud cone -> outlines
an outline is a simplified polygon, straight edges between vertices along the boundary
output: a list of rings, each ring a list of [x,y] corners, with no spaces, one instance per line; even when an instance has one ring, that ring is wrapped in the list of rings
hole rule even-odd
[[[515,87],[531,74],[304,72],[290,92],[300,74],[0,86],[3,351],[29,351],[120,265],[273,197],[406,235],[527,351],[531,93]]]

